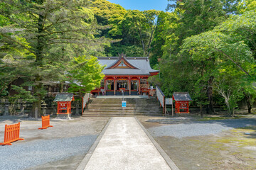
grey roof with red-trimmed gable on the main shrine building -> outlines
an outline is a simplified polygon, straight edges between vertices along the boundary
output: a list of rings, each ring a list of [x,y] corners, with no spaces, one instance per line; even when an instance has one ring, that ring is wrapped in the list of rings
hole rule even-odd
[[[159,70],[151,69],[148,57],[97,57],[105,75],[156,75]]]

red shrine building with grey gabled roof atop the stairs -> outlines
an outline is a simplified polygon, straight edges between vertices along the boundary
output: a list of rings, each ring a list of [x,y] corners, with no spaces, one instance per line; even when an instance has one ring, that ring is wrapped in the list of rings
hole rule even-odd
[[[151,69],[148,57],[97,57],[99,64],[105,65],[105,78],[101,87],[91,91],[94,95],[142,95],[149,94],[148,78],[159,74]]]

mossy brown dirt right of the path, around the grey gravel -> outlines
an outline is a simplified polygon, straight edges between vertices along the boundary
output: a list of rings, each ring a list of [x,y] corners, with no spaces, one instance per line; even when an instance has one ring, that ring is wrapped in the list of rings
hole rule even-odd
[[[181,119],[178,122],[172,118],[169,118],[169,122],[166,122],[166,118],[156,117],[138,119],[147,130],[173,123],[198,122],[197,118]],[[205,136],[156,137],[152,133],[151,135],[179,169],[256,169],[256,122],[255,125]]]

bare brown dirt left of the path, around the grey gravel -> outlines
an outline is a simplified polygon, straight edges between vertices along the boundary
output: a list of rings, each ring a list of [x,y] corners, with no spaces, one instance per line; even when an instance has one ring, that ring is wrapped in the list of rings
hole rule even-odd
[[[57,120],[50,118],[50,125],[53,128],[38,130],[41,128],[41,119],[26,118],[21,116],[0,116],[0,142],[4,142],[4,125],[21,123],[20,137],[23,141],[14,142],[13,145],[30,144],[34,141],[46,141],[67,137],[80,137],[84,135],[99,135],[110,118],[82,118],[76,117],[73,120]],[[1,146],[0,146],[1,147]],[[11,146],[10,146],[11,147]],[[1,150],[1,149],[0,149]],[[86,153],[66,157],[57,162],[48,162],[33,166],[29,169],[76,169]]]

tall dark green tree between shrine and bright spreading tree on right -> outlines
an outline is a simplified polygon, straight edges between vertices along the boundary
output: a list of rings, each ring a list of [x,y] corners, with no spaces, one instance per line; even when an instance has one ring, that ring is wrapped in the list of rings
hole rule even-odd
[[[172,2],[172,1],[171,1]],[[163,55],[160,62],[161,78],[164,91],[190,91],[195,93],[194,84],[202,82],[206,86],[208,96],[208,110],[213,111],[213,74],[215,56],[206,60],[191,60],[191,55],[181,52],[183,40],[193,35],[213,30],[220,25],[228,14],[235,13],[237,1],[177,1],[170,4],[172,15],[166,22],[168,28],[164,29]],[[171,87],[172,86],[172,87]],[[169,93],[171,93],[171,91]],[[199,91],[204,91],[203,89]],[[192,95],[193,96],[193,95]],[[196,95],[198,96],[198,95]],[[200,96],[200,95],[199,95]]]

